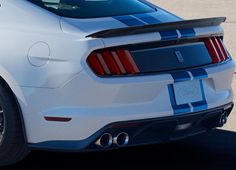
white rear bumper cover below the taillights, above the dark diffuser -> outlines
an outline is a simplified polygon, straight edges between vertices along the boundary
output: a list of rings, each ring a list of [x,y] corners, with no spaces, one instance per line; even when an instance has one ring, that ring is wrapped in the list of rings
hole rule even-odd
[[[104,79],[84,70],[61,88],[20,87],[24,98],[18,101],[28,143],[84,141],[114,122],[189,115],[231,103],[234,62],[204,69],[204,74],[196,74],[193,79],[202,82],[205,101],[192,104],[190,109],[172,102],[173,90],[169,87],[176,81],[189,81],[175,78],[174,73]],[[71,121],[47,121],[45,117]]]

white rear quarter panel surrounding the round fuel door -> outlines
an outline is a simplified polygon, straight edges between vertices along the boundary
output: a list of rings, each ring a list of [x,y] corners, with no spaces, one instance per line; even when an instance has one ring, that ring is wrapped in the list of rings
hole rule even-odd
[[[104,46],[100,40],[85,39],[79,31],[76,36],[65,34],[59,16],[27,1],[2,0],[1,5],[0,75],[13,86],[63,86],[82,70],[81,56]],[[49,57],[42,67],[29,62],[29,57],[45,60],[45,56],[29,56],[37,43],[49,48]]]

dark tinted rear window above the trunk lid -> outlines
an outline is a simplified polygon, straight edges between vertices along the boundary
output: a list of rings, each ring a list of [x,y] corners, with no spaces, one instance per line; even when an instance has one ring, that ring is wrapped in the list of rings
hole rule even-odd
[[[98,18],[153,12],[139,0],[28,0],[63,17]]]

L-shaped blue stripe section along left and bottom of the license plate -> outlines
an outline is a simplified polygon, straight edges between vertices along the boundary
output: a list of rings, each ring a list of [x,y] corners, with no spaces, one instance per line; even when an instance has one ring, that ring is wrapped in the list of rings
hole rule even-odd
[[[176,104],[173,84],[168,85],[168,91],[169,91],[171,106],[172,106],[172,109],[173,109],[175,115],[191,112],[189,104],[182,104],[182,105]]]

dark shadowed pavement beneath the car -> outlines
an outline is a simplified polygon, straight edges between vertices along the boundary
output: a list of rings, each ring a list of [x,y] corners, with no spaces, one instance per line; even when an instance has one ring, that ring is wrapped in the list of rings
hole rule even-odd
[[[187,140],[100,153],[32,152],[13,169],[235,170],[236,133],[216,130]]]

